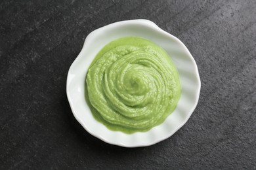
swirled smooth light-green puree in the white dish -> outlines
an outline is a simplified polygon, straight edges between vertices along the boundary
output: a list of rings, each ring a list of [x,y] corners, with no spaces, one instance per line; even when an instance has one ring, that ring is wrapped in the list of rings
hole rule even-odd
[[[161,124],[181,95],[179,73],[154,42],[124,37],[110,42],[91,63],[85,99],[98,122],[135,133]]]

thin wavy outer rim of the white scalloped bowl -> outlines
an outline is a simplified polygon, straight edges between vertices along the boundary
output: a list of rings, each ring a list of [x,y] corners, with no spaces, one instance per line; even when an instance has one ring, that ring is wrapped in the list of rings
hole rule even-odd
[[[74,63],[76,63],[77,60],[82,57],[81,54],[85,50],[87,44],[89,42],[93,41],[93,35],[98,33],[98,32],[104,31],[104,29],[111,29],[112,27],[117,27],[119,25],[129,25],[129,24],[146,24],[146,25],[148,25],[150,27],[154,27],[154,31],[158,31],[159,33],[169,37],[169,39],[173,39],[173,40],[175,40],[175,42],[179,43],[179,45],[182,46],[182,50],[184,50],[186,55],[192,61],[193,67],[195,68],[194,71],[196,72],[195,76],[196,76],[196,79],[197,79],[197,82],[198,82],[198,86],[197,86],[197,89],[196,89],[197,91],[196,91],[196,95],[195,95],[195,99],[196,100],[194,102],[194,105],[190,109],[190,112],[187,114],[186,118],[182,121],[181,124],[179,124],[179,126],[177,126],[175,128],[175,130],[172,131],[172,133],[170,133],[169,135],[167,135],[165,137],[161,137],[161,138],[155,139],[154,141],[152,141],[150,143],[133,143],[133,144],[118,143],[116,141],[107,140],[106,138],[102,137],[101,135],[98,135],[98,134],[94,133],[93,131],[91,131],[91,129],[89,127],[87,127],[87,125],[81,120],[81,118],[75,112],[74,103],[72,103],[72,97],[70,96],[70,90],[69,90],[70,86],[69,85],[70,85],[70,82],[72,81],[71,80],[72,78],[70,76],[71,75],[70,72],[72,70],[72,67],[74,66]],[[98,138],[98,139],[100,139],[100,140],[102,140],[102,141],[104,141],[106,143],[109,143],[109,144],[114,144],[114,145],[117,145],[117,146],[123,146],[123,147],[129,147],[129,148],[140,147],[140,146],[150,146],[152,144],[159,143],[160,141],[163,141],[163,140],[171,137],[174,133],[176,133],[182,126],[184,126],[184,124],[186,124],[186,122],[190,118],[192,112],[194,112],[194,109],[196,109],[196,105],[198,104],[198,100],[199,100],[199,97],[200,97],[200,90],[201,90],[201,81],[200,81],[200,75],[198,73],[198,66],[196,65],[196,61],[194,60],[194,58],[190,54],[188,48],[186,48],[186,46],[177,37],[171,35],[170,33],[167,33],[166,31],[164,31],[163,29],[158,27],[158,25],[156,25],[154,22],[152,22],[150,20],[145,20],[145,19],[124,20],[124,21],[120,21],[120,22],[114,22],[112,24],[108,24],[108,25],[105,25],[105,26],[100,27],[98,29],[95,29],[94,31],[89,33],[89,35],[87,35],[87,37],[86,37],[86,39],[85,39],[85,41],[83,43],[83,47],[82,47],[81,51],[79,52],[77,58],[75,58],[75,60],[73,61],[72,65],[70,66],[70,69],[68,70],[67,81],[66,81],[66,94],[67,94],[67,97],[68,97],[68,102],[70,103],[70,108],[71,108],[72,113],[74,114],[74,117],[77,120],[77,122],[79,122],[79,124],[81,124],[81,126],[83,126],[83,128],[88,133],[90,133],[91,135],[95,136],[96,138]],[[83,93],[83,95],[84,95],[84,93]],[[86,105],[87,105],[87,103],[86,103]],[[90,112],[91,112],[91,110],[90,110]],[[110,130],[110,129],[108,129],[108,130]]]

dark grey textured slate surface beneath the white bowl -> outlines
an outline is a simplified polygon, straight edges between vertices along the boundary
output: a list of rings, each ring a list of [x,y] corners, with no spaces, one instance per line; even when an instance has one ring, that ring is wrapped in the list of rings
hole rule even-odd
[[[0,169],[256,169],[256,1],[0,2]],[[66,97],[85,37],[145,18],[181,39],[198,64],[188,122],[153,146],[89,135]]]

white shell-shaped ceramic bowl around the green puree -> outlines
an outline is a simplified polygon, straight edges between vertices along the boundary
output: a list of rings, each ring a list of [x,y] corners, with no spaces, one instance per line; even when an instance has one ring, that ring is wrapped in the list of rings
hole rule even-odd
[[[97,122],[85,101],[85,76],[96,54],[108,42],[121,37],[143,37],[161,46],[175,63],[182,86],[181,98],[176,109],[160,126],[147,132],[125,134],[111,131]],[[116,22],[96,29],[85,39],[83,49],[68,71],[66,91],[72,112],[77,121],[91,135],[102,141],[125,147],[149,146],[171,137],[188,120],[200,95],[200,76],[194,58],[184,44],[173,35],[163,31],[149,20]]]

